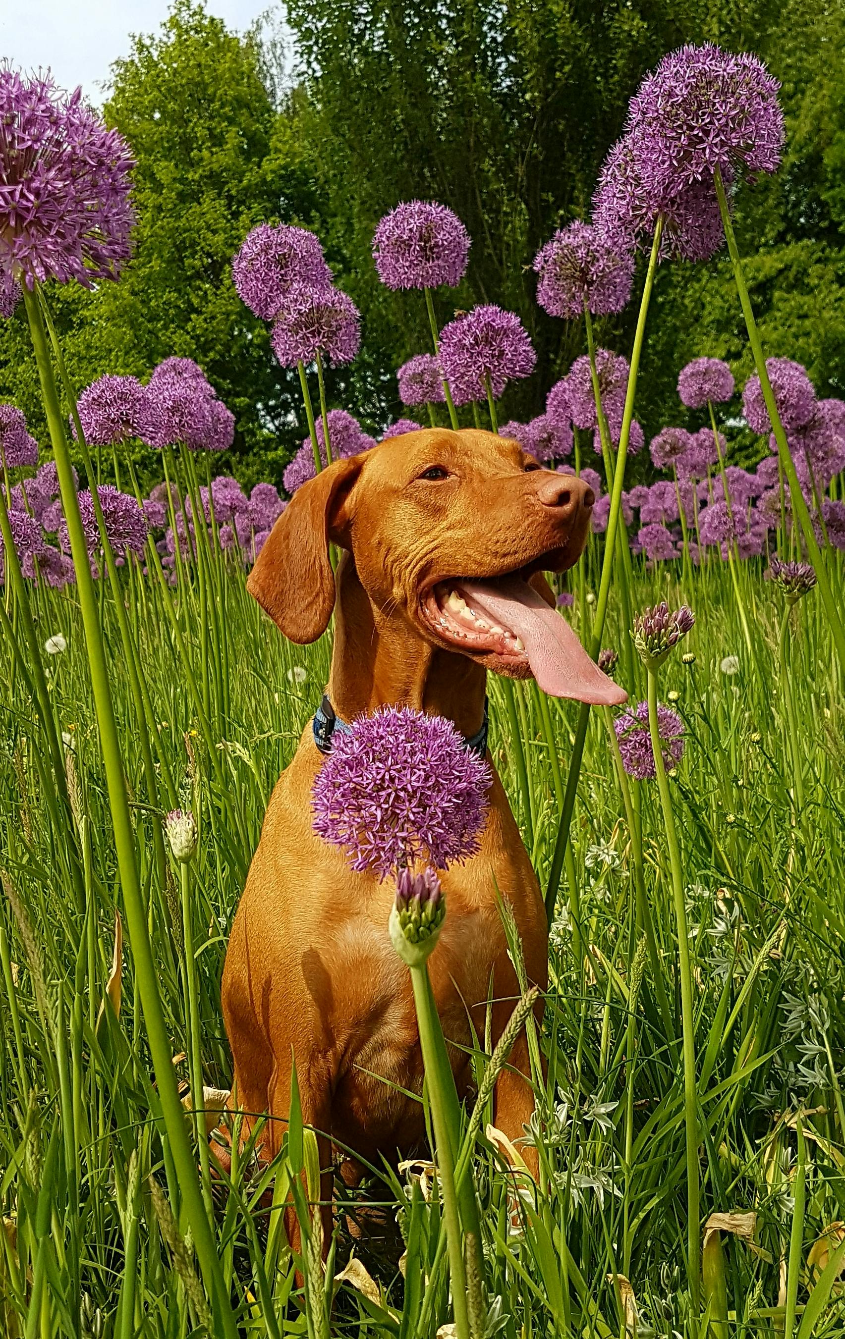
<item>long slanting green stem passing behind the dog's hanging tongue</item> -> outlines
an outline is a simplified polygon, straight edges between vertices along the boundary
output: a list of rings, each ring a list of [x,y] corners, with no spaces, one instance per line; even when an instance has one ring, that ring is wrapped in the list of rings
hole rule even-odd
[[[658,256],[660,253],[662,233],[663,233],[663,217],[660,216],[658,218],[658,224],[655,228],[655,237],[651,246],[651,256],[648,258],[648,270],[645,273],[645,284],[643,285],[643,297],[640,299],[640,312],[637,316],[636,332],[633,336],[633,348],[631,351],[631,374],[628,376],[628,388],[625,391],[625,408],[623,412],[621,432],[619,437],[619,454],[616,457],[616,473],[613,474],[611,513],[608,516],[608,528],[604,541],[604,558],[601,562],[601,578],[599,582],[599,599],[596,601],[596,617],[593,621],[593,640],[591,645],[591,655],[593,660],[599,659],[599,652],[601,651],[604,620],[607,617],[607,611],[608,611],[611,580],[613,576],[616,529],[619,525],[619,517],[621,511],[621,494],[625,482],[625,458],[628,455],[631,420],[633,419],[633,398],[636,394],[636,379],[640,370],[643,341],[645,339],[645,317],[648,316],[648,304],[651,301],[651,293],[655,287],[655,274],[658,270]],[[587,742],[588,723],[589,723],[589,704],[583,703],[581,710],[579,712],[579,723],[576,727],[574,743],[572,746],[569,774],[566,777],[566,793],[564,795],[564,803],[561,807],[560,822],[557,828],[557,838],[554,841],[554,852],[552,854],[552,865],[549,869],[549,882],[546,886],[545,902],[546,902],[546,916],[549,917],[549,921],[554,915],[554,902],[557,901],[560,876],[564,868],[566,846],[569,845],[569,830],[572,826],[572,814],[574,811],[574,797],[579,789],[579,777],[581,773],[581,761],[584,758],[584,744]]]

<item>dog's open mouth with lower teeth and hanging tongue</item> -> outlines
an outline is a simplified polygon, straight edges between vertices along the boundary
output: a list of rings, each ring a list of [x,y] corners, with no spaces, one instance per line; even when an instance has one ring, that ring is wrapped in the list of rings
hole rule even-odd
[[[439,640],[514,678],[533,675],[554,698],[615,706],[628,700],[591,660],[557,609],[528,582],[530,572],[438,581],[423,616]]]

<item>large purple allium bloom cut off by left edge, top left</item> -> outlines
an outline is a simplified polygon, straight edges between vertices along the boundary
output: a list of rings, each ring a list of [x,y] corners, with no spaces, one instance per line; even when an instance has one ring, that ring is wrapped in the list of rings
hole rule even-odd
[[[133,166],[82,88],[0,66],[0,270],[29,288],[114,279],[130,254]]]

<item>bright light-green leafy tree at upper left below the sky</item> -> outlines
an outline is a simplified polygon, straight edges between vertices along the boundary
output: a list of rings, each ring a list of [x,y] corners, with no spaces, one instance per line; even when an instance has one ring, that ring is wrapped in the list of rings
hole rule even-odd
[[[237,297],[232,256],[256,222],[312,224],[316,212],[297,99],[275,106],[262,75],[258,43],[189,0],[157,36],[134,39],[104,112],[137,158],[135,254],[117,284],[50,293],[79,388],[103,372],[146,378],[171,353],[194,358],[236,412],[232,454],[248,482],[277,475],[303,431],[299,382]],[[21,311],[0,323],[0,395],[40,427]],[[158,477],[153,453],[141,463]]]

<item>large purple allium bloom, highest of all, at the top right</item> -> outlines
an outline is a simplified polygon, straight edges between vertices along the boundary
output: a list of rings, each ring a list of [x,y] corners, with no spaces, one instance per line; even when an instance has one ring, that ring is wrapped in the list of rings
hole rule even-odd
[[[631,99],[643,173],[659,194],[773,173],[783,149],[779,83],[762,60],[706,43],[666,55]]]

